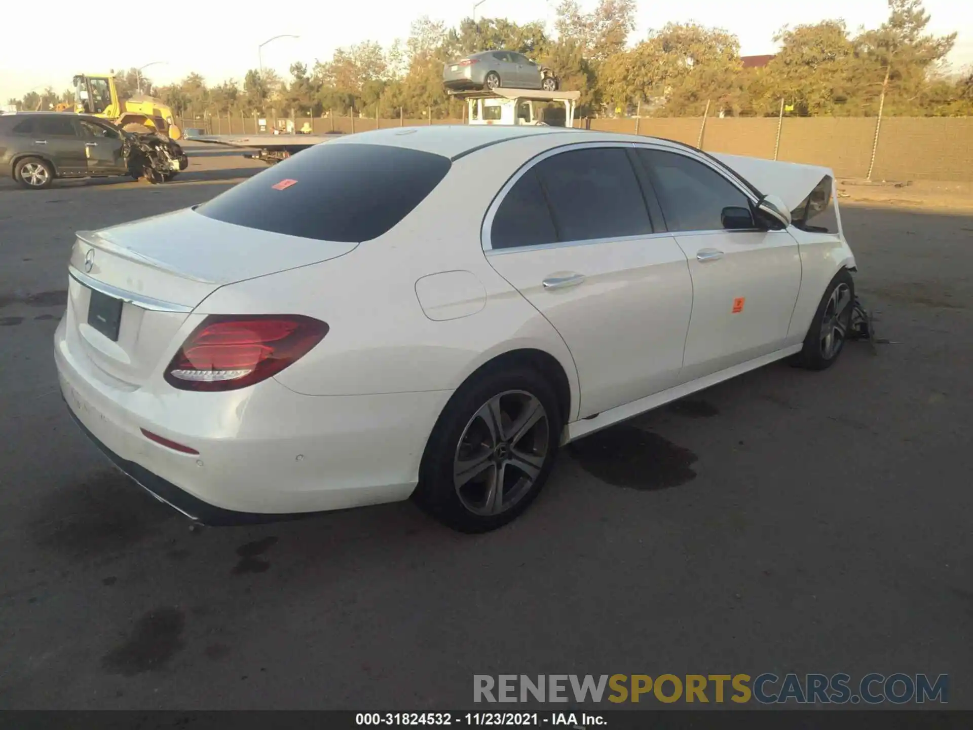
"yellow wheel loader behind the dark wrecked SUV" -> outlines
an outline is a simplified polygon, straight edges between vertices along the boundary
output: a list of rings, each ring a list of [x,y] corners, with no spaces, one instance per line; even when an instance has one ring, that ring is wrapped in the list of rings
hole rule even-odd
[[[136,94],[122,101],[112,74],[74,77],[75,111],[115,123],[126,131],[157,132],[179,139],[182,131],[175,125],[172,110],[153,96]]]

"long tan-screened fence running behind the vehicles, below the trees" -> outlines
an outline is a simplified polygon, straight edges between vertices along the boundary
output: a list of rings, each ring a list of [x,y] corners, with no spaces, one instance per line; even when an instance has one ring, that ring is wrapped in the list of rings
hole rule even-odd
[[[295,116],[290,110],[263,113],[204,113],[178,120],[181,128],[206,134],[307,131],[350,134],[375,128],[463,124],[462,119],[366,118],[328,113]],[[575,127],[665,137],[707,152],[820,164],[845,178],[973,181],[973,118],[885,117],[640,117],[579,119]],[[877,133],[878,132],[878,133]]]

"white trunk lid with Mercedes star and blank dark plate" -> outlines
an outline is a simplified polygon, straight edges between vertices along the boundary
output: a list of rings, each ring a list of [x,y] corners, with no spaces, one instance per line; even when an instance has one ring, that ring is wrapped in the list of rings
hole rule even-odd
[[[165,365],[183,323],[221,286],[327,261],[357,245],[259,231],[191,208],[79,232],[68,270],[71,340],[100,370],[137,386]]]

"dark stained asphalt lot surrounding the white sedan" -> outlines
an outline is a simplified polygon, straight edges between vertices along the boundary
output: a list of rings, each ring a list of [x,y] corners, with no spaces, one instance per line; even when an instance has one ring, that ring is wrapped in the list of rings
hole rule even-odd
[[[973,216],[845,206],[889,344],[578,442],[505,529],[404,502],[191,533],[69,420],[52,354],[75,231],[264,166],[191,153],[163,186],[0,183],[0,708],[435,710],[474,674],[763,672],[948,673],[973,708]]]

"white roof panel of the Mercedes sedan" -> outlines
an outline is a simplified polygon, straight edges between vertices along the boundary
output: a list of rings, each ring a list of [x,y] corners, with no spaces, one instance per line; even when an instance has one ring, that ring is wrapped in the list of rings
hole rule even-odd
[[[390,147],[406,147],[420,152],[456,160],[477,150],[524,137],[551,136],[552,146],[572,142],[647,142],[664,147],[684,150],[689,145],[670,139],[649,137],[644,134],[619,134],[610,131],[589,131],[563,127],[533,127],[529,125],[429,125],[363,131],[349,134],[327,144],[384,144]],[[693,148],[695,149],[695,148]]]

